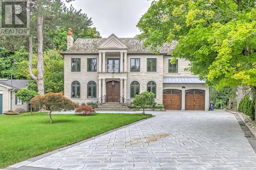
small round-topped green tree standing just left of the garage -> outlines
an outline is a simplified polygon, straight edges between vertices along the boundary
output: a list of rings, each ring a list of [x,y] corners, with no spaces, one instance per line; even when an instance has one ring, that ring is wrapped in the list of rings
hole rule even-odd
[[[145,114],[145,108],[147,106],[152,106],[155,103],[155,94],[153,92],[144,91],[135,96],[133,100],[133,105],[137,108],[143,108],[143,114]]]

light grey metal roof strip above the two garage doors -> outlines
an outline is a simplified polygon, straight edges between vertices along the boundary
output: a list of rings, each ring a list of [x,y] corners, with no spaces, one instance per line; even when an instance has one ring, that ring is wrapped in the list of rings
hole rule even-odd
[[[164,84],[205,84],[198,77],[163,77]]]

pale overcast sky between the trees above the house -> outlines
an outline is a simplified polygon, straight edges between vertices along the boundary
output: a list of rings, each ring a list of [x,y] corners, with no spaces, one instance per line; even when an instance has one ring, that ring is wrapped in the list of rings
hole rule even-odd
[[[150,7],[147,0],[76,0],[69,3],[82,9],[92,18],[93,26],[105,38],[114,33],[118,37],[134,37],[140,17]],[[69,6],[69,5],[68,5]]]

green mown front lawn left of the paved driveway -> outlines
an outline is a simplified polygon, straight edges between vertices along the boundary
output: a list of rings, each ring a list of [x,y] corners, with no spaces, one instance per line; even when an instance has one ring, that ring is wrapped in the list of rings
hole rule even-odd
[[[54,114],[50,124],[45,113],[0,115],[0,168],[150,116]]]

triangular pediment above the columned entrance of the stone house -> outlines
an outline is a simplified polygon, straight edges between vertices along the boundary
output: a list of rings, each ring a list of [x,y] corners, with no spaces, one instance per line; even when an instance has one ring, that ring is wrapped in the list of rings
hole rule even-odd
[[[117,36],[112,34],[102,42],[98,49],[128,49],[129,47],[125,45]]]

